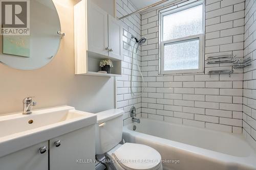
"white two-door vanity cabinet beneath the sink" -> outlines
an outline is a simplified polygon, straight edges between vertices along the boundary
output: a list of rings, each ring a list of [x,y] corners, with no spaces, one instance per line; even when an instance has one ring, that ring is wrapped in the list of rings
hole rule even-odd
[[[40,153],[42,147],[47,150]],[[94,162],[84,162],[94,158],[95,126],[91,125],[1,157],[0,170],[95,169]]]

